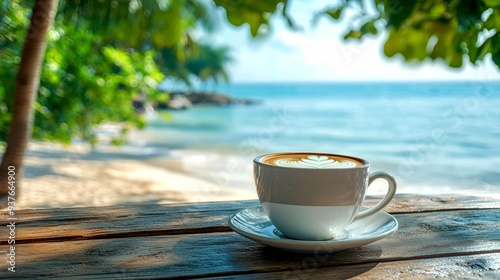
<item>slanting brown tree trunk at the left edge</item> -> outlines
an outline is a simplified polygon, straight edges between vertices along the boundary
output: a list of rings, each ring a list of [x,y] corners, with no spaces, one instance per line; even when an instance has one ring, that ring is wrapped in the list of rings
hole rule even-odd
[[[57,2],[58,0],[37,0],[31,15],[30,27],[17,73],[7,147],[0,165],[0,207],[2,208],[6,207],[7,201],[15,203],[16,196],[19,195],[23,158],[31,137],[33,102],[40,85],[40,68],[47,45],[47,31],[54,21]]]

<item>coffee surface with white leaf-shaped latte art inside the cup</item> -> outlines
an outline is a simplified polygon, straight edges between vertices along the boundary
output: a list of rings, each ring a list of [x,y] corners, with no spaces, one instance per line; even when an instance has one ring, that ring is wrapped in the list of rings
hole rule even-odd
[[[260,162],[291,168],[352,168],[363,165],[362,162],[341,156],[314,155],[314,154],[282,154],[270,155],[262,158]]]

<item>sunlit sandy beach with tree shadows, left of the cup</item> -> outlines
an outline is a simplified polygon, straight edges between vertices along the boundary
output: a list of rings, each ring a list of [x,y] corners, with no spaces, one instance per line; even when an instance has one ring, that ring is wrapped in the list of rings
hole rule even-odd
[[[250,176],[230,178],[215,155],[168,158],[120,147],[30,143],[17,207],[51,208],[255,199]],[[204,168],[211,166],[210,168]],[[251,174],[248,166],[244,173]],[[221,168],[222,167],[222,168]],[[237,184],[237,187],[234,185]],[[232,186],[231,186],[232,185]]]

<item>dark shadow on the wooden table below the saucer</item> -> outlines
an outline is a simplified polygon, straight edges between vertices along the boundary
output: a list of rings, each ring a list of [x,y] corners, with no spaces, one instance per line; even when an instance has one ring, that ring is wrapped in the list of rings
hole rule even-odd
[[[318,274],[324,273],[328,275],[327,279],[345,279],[377,266],[382,248],[372,244],[334,253],[304,254],[252,241],[235,242],[234,235],[223,234],[183,238],[172,248],[172,253],[189,257],[163,269],[173,272],[179,267],[189,267],[193,272],[197,271],[197,276],[203,277],[230,278],[237,275],[238,279],[317,279]],[[197,264],[203,264],[203,269],[200,270]]]

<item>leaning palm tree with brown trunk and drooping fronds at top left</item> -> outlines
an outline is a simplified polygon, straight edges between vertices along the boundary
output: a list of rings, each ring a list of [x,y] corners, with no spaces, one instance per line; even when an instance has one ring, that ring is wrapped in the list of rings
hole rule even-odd
[[[211,28],[210,13],[196,0],[156,1],[62,1],[63,21],[79,24],[84,18],[103,41],[122,47],[145,50],[173,47],[185,42],[188,31],[202,22]],[[40,84],[40,69],[45,53],[46,35],[58,10],[58,0],[36,0],[21,56],[15,90],[12,120],[6,149],[0,164],[0,207],[9,196],[19,193],[23,158],[33,124],[33,104]],[[144,32],[146,30],[146,32]],[[15,169],[15,176],[12,174]],[[12,185],[16,191],[12,192]],[[9,186],[10,189],[9,189]],[[10,192],[9,192],[10,191]]]

